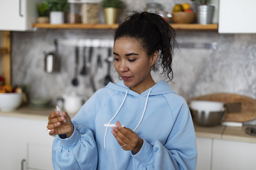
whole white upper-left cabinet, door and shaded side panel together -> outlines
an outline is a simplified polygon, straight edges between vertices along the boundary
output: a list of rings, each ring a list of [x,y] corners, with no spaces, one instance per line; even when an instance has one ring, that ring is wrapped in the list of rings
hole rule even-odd
[[[0,30],[32,30],[38,2],[42,0],[0,0]]]

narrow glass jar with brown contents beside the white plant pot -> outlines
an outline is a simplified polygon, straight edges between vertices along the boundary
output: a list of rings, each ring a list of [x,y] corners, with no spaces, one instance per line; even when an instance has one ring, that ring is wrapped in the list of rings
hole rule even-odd
[[[68,0],[69,3],[69,23],[81,23],[81,1],[80,0]]]

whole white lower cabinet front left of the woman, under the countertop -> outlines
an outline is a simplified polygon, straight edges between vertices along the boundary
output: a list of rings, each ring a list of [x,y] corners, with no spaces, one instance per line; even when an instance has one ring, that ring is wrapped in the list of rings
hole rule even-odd
[[[53,170],[53,136],[46,131],[47,120],[0,116],[0,169]]]

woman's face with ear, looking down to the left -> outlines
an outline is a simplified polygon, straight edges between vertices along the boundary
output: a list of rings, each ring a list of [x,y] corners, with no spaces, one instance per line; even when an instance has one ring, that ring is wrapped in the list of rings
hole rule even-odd
[[[145,85],[153,80],[150,70],[157,60],[158,52],[155,53],[148,57],[139,41],[134,38],[116,39],[114,44],[115,69],[123,79],[125,86],[130,89],[147,87]]]

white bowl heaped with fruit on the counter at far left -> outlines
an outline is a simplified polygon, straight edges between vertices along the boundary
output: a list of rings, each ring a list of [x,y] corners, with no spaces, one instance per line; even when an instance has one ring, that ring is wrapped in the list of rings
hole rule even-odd
[[[22,104],[23,93],[20,87],[10,84],[0,86],[0,111],[11,112]]]

